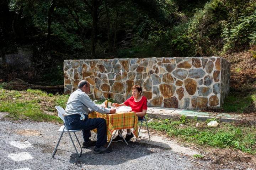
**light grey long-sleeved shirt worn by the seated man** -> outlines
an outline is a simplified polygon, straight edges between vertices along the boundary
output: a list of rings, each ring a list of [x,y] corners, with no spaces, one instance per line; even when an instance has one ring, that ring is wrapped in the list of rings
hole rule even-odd
[[[81,89],[77,89],[70,96],[65,109],[65,116],[72,114],[86,114],[96,111],[102,114],[110,113],[110,109],[97,106]]]

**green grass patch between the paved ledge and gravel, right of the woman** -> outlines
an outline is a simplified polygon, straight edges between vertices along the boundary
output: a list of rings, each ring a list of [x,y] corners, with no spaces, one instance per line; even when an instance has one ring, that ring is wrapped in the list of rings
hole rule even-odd
[[[196,145],[217,148],[235,148],[242,152],[256,154],[256,127],[220,123],[218,127],[210,128],[207,122],[200,122],[202,127],[197,128],[195,120],[154,119],[148,123],[149,128],[164,131],[170,137]],[[199,158],[199,157],[198,157]]]

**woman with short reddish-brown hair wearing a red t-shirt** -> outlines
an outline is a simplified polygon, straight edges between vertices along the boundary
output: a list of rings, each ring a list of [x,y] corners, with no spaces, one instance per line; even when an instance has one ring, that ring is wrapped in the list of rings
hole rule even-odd
[[[142,120],[144,115],[146,114],[147,107],[147,99],[145,96],[142,96],[142,87],[139,85],[132,86],[132,97],[128,98],[125,102],[122,104],[113,103],[112,106],[119,107],[119,106],[130,106],[132,108],[132,111],[136,113],[138,116],[138,120]],[[121,133],[121,131],[119,131]],[[129,142],[130,139],[133,137],[133,134],[131,133],[130,129],[127,129],[126,134],[126,142]],[[117,135],[112,142],[119,142],[123,141],[122,136],[119,134]]]

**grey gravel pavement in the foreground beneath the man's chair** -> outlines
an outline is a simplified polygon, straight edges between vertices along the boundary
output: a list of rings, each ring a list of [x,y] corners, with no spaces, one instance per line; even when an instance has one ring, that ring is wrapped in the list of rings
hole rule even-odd
[[[0,169],[206,169],[188,161],[189,157],[138,142],[128,146],[122,142],[112,143],[113,152],[108,154],[95,155],[90,147],[83,149],[78,158],[68,134],[64,134],[59,145],[62,150],[57,150],[53,159],[52,152],[60,135],[59,126],[45,122],[0,120]],[[76,134],[82,142],[82,132]],[[29,142],[31,147],[18,148],[18,145],[11,145],[13,141]],[[27,160],[10,158],[19,153],[26,153]],[[25,156],[19,158],[25,159]]]

